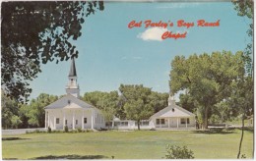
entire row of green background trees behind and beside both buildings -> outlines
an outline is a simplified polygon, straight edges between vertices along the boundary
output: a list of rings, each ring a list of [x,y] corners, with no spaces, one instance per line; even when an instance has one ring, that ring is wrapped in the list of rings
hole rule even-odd
[[[194,54],[187,59],[176,56],[171,67],[172,92],[185,91],[177,104],[195,113],[204,129],[209,121],[224,123],[239,115],[253,114],[253,80],[245,73],[242,52]],[[22,104],[2,94],[2,127],[44,127],[43,108],[58,98],[41,93],[30,104]],[[100,109],[107,122],[115,116],[140,123],[166,107],[167,98],[168,93],[142,84],[121,84],[119,92],[87,92],[81,99]]]

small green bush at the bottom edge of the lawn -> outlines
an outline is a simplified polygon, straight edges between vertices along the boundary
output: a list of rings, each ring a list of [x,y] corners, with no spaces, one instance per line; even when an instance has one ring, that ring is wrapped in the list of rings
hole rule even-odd
[[[167,154],[166,159],[194,159],[194,152],[188,150],[187,146],[177,146],[177,145],[166,145]]]

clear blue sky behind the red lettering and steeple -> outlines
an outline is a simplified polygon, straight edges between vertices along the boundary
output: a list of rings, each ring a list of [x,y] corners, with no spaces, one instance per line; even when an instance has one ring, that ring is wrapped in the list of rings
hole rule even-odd
[[[148,28],[128,28],[128,24],[152,20],[196,23],[221,21],[220,27],[167,27],[187,31],[183,39],[144,40]],[[186,57],[213,51],[243,50],[249,40],[249,21],[238,17],[230,2],[205,3],[128,3],[105,2],[104,10],[86,19],[82,36],[74,44],[81,95],[85,92],[118,90],[120,83],[144,84],[159,92],[168,92],[170,62],[176,55]],[[42,65],[42,73],[32,81],[32,95],[65,94],[70,61]]]

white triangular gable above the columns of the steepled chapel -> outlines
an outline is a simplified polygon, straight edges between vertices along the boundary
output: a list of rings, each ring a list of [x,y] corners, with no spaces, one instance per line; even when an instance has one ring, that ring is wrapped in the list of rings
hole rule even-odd
[[[67,94],[55,102],[44,107],[44,109],[59,109],[59,108],[95,108],[93,105],[78,99],[77,97]]]

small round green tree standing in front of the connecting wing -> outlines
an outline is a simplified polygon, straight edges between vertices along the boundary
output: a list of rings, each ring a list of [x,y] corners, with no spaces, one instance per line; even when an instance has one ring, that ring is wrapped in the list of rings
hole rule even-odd
[[[153,105],[150,102],[149,95],[151,88],[140,85],[120,84],[119,90],[125,97],[124,110],[127,119],[136,120],[138,130],[140,130],[140,121],[148,119],[154,113]]]

